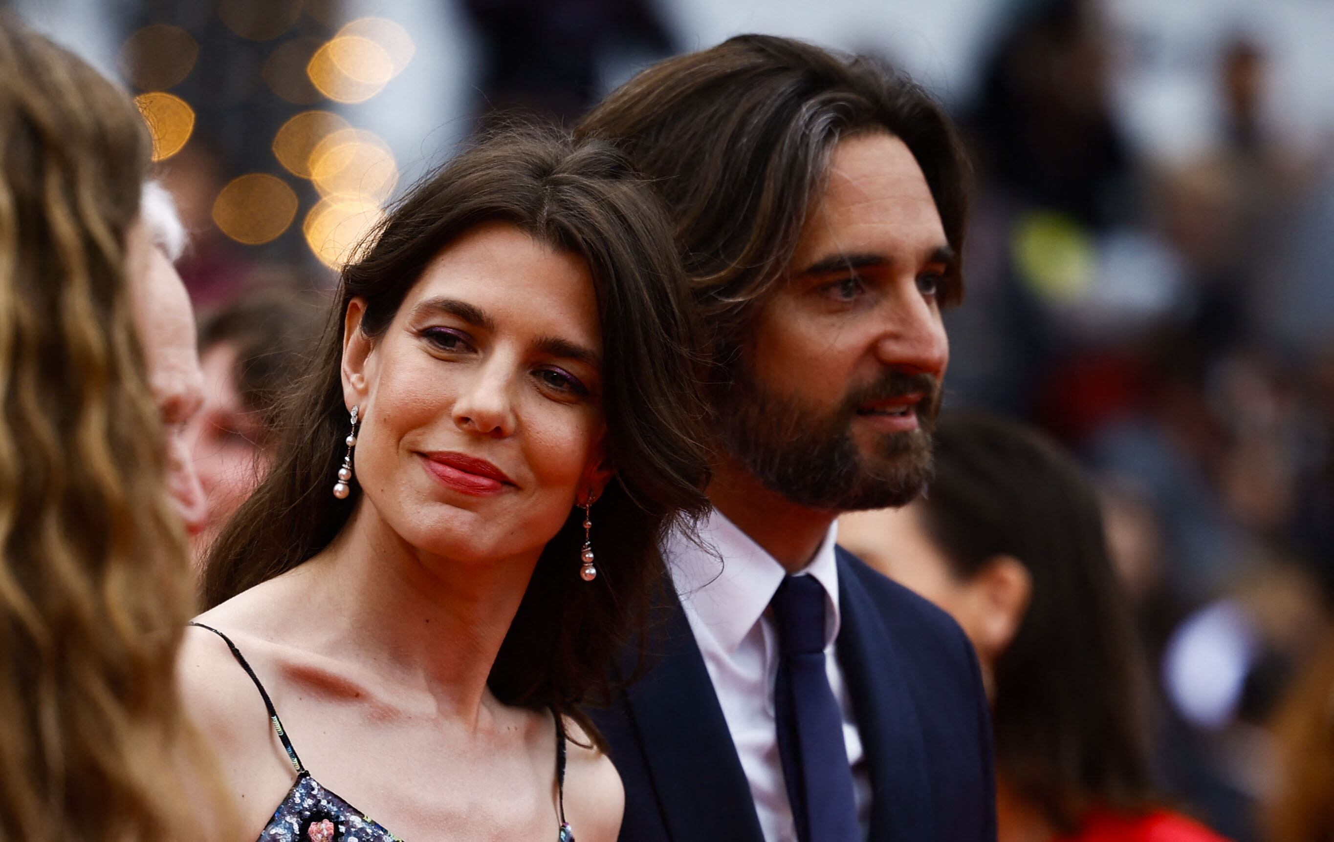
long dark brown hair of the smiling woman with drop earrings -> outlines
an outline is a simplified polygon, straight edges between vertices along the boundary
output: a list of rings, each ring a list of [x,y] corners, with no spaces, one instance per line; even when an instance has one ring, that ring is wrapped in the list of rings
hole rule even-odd
[[[603,340],[603,417],[615,480],[592,508],[598,578],[579,578],[583,512],[551,538],[491,670],[504,703],[570,715],[598,741],[579,705],[607,697],[622,646],[640,632],[667,582],[660,541],[707,509],[698,386],[698,328],[664,210],[608,144],[507,131],[414,188],[364,257],[343,270],[305,377],[281,414],[272,469],[213,544],[204,601],[217,605],[317,554],[362,497],[331,493],[347,448],[339,364],[343,313],[366,301],[360,330],[388,329],[432,257],[467,230],[510,222],[578,254],[592,274]],[[496,282],[522,284],[522,278]]]

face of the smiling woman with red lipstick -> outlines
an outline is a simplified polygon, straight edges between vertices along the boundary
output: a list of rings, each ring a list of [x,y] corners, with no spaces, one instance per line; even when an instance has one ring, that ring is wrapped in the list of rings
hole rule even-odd
[[[430,554],[535,558],[608,477],[584,261],[487,224],[432,260],[374,341],[356,329],[362,306],[348,308],[343,382],[360,406],[363,505]]]

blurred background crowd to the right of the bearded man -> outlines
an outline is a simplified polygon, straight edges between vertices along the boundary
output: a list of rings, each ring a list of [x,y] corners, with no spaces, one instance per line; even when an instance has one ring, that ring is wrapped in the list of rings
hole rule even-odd
[[[986,65],[963,115],[978,192],[950,388],[1091,469],[1157,679],[1158,771],[1255,839],[1294,750],[1277,735],[1303,715],[1283,705],[1327,669],[1334,157],[1266,124],[1270,57],[1238,33],[1214,147],[1137,159],[1109,43],[1095,5],[1046,4]]]

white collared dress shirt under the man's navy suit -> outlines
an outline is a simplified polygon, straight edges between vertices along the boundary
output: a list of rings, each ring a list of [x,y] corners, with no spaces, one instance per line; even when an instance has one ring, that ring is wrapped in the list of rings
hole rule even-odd
[[[834,541],[838,524],[799,576],[811,576],[824,588],[824,663],[830,687],[843,710],[843,745],[852,766],[856,811],[862,837],[870,826],[871,782],[862,737],[852,718],[852,702],[843,681],[834,639],[839,630],[838,565]],[[767,842],[796,842],[792,807],[783,781],[774,719],[774,681],[778,675],[778,632],[768,610],[787,572],[755,541],[716,510],[700,526],[699,537],[710,553],[683,536],[667,542],[676,593],[704,666],[714,682],[727,727],[736,745],[759,826]],[[722,560],[719,561],[719,556]]]

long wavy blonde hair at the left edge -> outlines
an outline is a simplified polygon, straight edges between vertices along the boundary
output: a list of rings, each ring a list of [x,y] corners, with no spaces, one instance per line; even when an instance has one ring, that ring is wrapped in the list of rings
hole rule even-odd
[[[193,610],[135,338],[128,96],[0,16],[0,839],[179,838]]]

